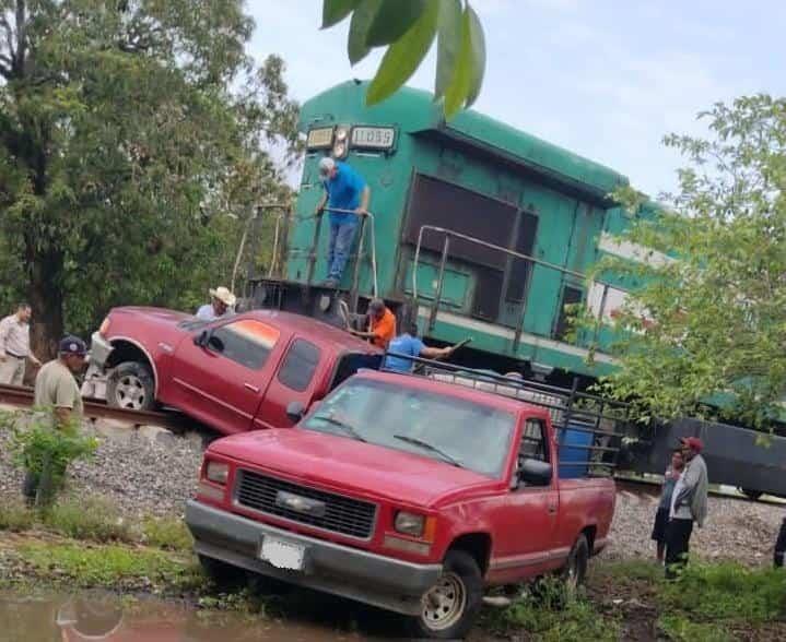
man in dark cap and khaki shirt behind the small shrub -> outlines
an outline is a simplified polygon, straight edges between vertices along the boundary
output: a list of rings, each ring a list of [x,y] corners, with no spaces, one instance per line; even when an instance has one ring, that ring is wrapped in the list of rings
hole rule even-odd
[[[78,336],[67,336],[58,353],[58,358],[43,366],[35,378],[35,406],[51,408],[54,428],[62,430],[82,419],[84,406],[74,374],[84,368],[87,346]],[[38,477],[28,471],[22,487],[28,502],[35,500],[38,484]]]

